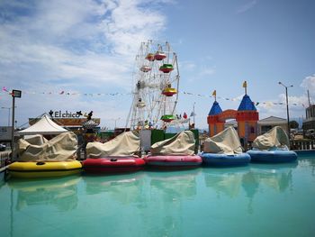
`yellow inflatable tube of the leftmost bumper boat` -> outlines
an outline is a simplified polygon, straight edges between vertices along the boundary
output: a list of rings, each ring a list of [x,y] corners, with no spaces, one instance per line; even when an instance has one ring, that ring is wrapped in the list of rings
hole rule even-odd
[[[48,178],[77,174],[82,165],[79,161],[14,162],[8,167],[14,178]]]

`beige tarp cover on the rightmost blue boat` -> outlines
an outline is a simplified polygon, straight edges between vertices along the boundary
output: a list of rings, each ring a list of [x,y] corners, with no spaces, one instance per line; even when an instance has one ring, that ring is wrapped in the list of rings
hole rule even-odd
[[[252,146],[257,150],[288,150],[290,141],[284,129],[280,126],[275,126],[263,135],[257,136]]]

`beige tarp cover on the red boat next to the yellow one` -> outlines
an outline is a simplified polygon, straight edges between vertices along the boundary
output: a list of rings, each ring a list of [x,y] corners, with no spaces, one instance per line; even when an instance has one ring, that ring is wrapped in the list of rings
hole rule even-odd
[[[138,155],[140,139],[138,132],[123,132],[105,143],[93,141],[86,145],[86,154],[90,158],[128,157]]]

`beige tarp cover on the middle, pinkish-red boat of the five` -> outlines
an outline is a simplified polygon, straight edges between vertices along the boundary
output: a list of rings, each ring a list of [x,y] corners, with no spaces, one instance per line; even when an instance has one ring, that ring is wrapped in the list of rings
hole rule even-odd
[[[193,132],[184,131],[165,141],[158,141],[151,146],[151,154],[155,155],[193,155],[195,140]]]

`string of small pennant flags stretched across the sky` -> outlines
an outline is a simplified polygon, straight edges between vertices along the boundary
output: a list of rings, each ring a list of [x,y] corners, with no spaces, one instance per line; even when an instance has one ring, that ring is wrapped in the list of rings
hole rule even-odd
[[[4,95],[12,95],[12,90],[8,89],[7,87],[2,87],[2,91],[0,94]],[[236,98],[229,98],[229,97],[222,97],[222,96],[216,96],[216,90],[213,91],[211,95],[202,95],[202,94],[195,94],[192,92],[187,92],[187,91],[180,91],[180,94],[187,95],[187,96],[198,96],[198,97],[204,97],[204,98],[209,98],[213,97],[215,99],[220,99],[220,100],[227,100],[227,101],[240,101],[241,99],[236,97]],[[58,95],[58,96],[130,96],[132,93],[120,93],[120,92],[115,92],[115,93],[79,93],[79,92],[67,92],[65,90],[60,90],[58,92],[35,92],[35,91],[23,91],[23,94],[27,95]],[[254,105],[286,105],[283,102],[272,102],[272,101],[266,101],[266,102],[253,102]],[[289,105],[295,105],[299,106],[302,105],[305,107],[303,104],[297,104],[297,103],[290,103]]]

